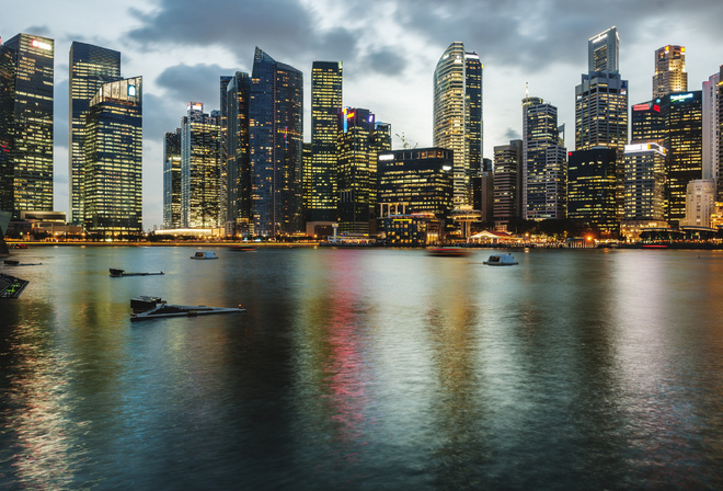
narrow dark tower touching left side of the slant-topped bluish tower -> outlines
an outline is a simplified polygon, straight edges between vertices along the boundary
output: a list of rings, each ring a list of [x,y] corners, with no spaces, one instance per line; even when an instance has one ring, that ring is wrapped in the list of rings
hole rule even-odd
[[[228,111],[227,144],[227,216],[233,221],[234,233],[253,233],[251,153],[249,148],[249,103],[251,78],[237,71],[228,83],[226,93]]]

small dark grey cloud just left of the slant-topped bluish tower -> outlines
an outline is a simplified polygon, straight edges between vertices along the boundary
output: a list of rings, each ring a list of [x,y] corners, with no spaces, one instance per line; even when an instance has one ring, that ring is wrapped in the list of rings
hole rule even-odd
[[[206,112],[219,109],[219,83],[222,75],[233,75],[237,70],[221,68],[218,65],[174,65],[161,72],[156,83],[165,89],[167,93],[175,100],[184,102],[203,102]],[[243,70],[241,70],[243,71]],[[179,114],[182,112],[176,111]]]

